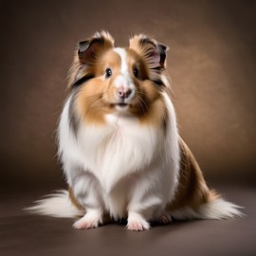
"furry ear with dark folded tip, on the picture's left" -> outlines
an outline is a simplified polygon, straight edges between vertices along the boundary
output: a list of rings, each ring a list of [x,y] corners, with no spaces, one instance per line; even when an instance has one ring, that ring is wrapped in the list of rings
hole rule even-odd
[[[106,31],[97,32],[90,39],[79,42],[79,62],[90,65],[103,50],[112,47],[114,47],[113,37]]]

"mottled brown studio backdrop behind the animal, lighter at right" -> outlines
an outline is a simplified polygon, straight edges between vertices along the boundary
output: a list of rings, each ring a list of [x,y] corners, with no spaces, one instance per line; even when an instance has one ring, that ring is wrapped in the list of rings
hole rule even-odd
[[[76,43],[106,29],[167,46],[180,133],[209,181],[255,180],[255,1],[1,1],[0,186],[64,179],[55,130]]]

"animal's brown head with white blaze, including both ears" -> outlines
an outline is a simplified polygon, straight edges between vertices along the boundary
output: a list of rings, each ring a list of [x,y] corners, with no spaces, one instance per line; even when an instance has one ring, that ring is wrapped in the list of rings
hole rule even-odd
[[[162,90],[169,86],[163,75],[166,50],[142,34],[123,48],[115,47],[105,31],[80,42],[68,82],[75,112],[95,122],[109,113],[130,113],[141,119],[152,115],[155,103],[162,101]]]

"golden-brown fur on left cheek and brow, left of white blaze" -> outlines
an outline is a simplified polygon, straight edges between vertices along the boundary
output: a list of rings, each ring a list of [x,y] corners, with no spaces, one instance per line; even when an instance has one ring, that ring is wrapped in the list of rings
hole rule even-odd
[[[116,87],[112,84],[119,75],[121,60],[113,50],[108,50],[98,58],[91,72],[95,78],[87,81],[77,95],[77,111],[87,123],[104,124],[104,116],[114,111],[112,106]],[[111,68],[113,76],[105,78],[105,70]]]

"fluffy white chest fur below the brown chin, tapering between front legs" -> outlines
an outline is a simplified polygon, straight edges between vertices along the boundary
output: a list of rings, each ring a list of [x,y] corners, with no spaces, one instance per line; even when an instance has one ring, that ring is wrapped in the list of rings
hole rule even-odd
[[[95,174],[106,190],[122,176],[145,169],[160,154],[163,131],[142,127],[135,117],[108,115],[106,125],[82,124],[74,135],[68,123],[68,104],[59,131],[62,159]]]

